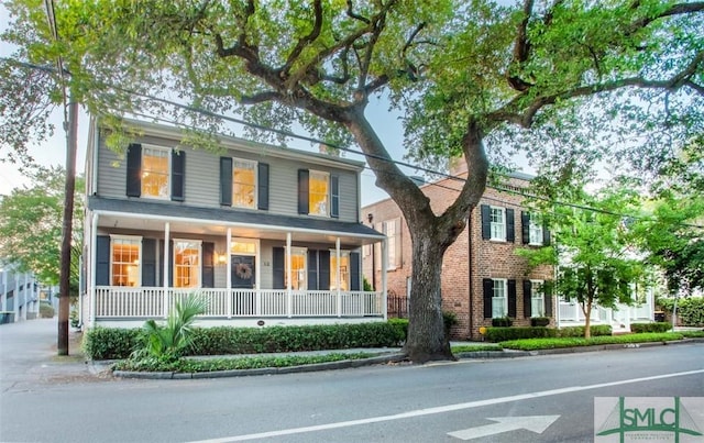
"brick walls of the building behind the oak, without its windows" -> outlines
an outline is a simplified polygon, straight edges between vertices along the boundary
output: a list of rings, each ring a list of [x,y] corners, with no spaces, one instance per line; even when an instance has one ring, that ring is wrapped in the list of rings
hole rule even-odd
[[[466,175],[460,175],[465,177]],[[520,188],[527,181],[519,178],[510,178],[502,186]],[[436,184],[421,187],[424,193],[430,199],[436,213],[441,213],[453,202],[461,189],[462,181],[453,179],[439,180]],[[552,280],[552,268],[544,266],[535,269],[528,276],[526,261],[515,251],[524,247],[521,242],[521,198],[515,193],[498,191],[487,188],[480,204],[472,211],[468,226],[458,236],[457,241],[448,248],[442,264],[442,309],[457,314],[458,325],[452,330],[453,339],[481,337],[480,328],[492,325],[492,319],[484,319],[483,278],[507,278],[516,280],[516,325],[530,325],[530,319],[524,318],[522,280],[540,279]],[[482,239],[481,204],[501,206],[514,209],[515,241],[495,242]],[[369,207],[362,208],[363,218],[372,214],[374,228],[381,231],[383,222],[394,218],[402,218],[397,204],[386,199]],[[409,290],[408,284],[411,275],[413,246],[410,234],[405,221],[402,222],[402,256],[403,266],[387,273],[388,289],[391,294],[405,295]],[[530,246],[529,246],[530,247]],[[372,274],[372,257],[364,256],[363,270],[369,281],[381,281],[381,250],[376,247],[374,256],[375,275]],[[547,317],[554,318],[554,303],[552,313]],[[553,322],[551,322],[554,325]]]

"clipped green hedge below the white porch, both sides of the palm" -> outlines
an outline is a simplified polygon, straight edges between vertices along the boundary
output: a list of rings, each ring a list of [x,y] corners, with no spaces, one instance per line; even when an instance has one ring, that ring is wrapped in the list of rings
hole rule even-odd
[[[189,355],[258,354],[398,346],[408,321],[271,328],[195,328]],[[84,351],[90,359],[120,359],[141,343],[141,329],[88,330]]]

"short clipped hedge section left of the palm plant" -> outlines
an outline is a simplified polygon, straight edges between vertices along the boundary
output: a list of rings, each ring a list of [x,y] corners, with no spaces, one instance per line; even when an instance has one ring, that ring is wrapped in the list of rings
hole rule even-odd
[[[140,329],[89,329],[84,339],[84,352],[90,359],[127,358],[140,344],[141,335]]]

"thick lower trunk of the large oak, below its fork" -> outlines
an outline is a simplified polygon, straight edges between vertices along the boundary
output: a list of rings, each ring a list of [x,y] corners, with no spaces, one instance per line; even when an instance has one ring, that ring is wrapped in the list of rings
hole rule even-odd
[[[446,250],[429,234],[414,237],[410,312],[404,352],[415,363],[454,359],[442,318],[440,284]]]

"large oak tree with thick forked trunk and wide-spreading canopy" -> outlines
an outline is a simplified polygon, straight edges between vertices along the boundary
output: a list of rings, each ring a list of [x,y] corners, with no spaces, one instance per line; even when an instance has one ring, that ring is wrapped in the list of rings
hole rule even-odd
[[[95,110],[146,112],[145,95],[170,92],[191,110],[356,144],[411,233],[414,362],[451,358],[442,257],[484,191],[490,157],[522,151],[548,178],[537,182],[588,178],[616,153],[657,174],[702,133],[702,2],[92,0],[57,4],[61,44],[34,2],[10,2],[34,20],[43,44],[31,54],[61,54]],[[469,177],[444,212],[367,119],[380,96],[404,115],[409,158],[437,166],[463,155]],[[191,117],[205,129],[204,115]]]

